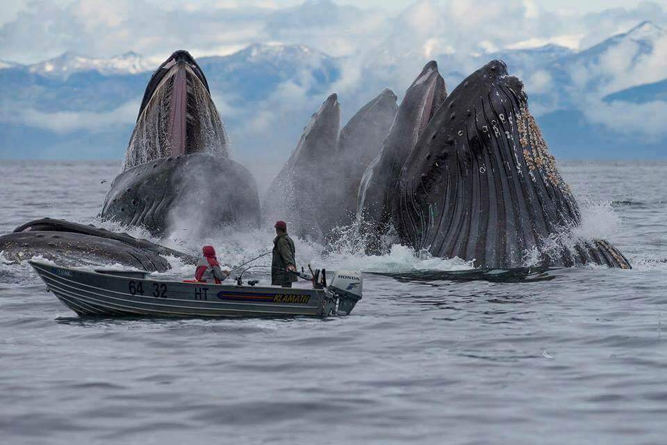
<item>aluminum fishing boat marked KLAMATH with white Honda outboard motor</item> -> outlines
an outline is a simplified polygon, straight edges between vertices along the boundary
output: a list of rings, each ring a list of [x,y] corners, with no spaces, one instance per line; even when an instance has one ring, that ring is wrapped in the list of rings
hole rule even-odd
[[[79,316],[317,316],[349,314],[361,299],[359,273],[338,271],[311,289],[155,280],[136,270],[81,270],[28,261],[65,306]]]

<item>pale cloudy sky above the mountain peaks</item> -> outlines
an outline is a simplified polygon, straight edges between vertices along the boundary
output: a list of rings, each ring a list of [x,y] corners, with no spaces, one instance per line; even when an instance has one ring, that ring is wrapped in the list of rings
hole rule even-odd
[[[400,46],[415,33],[425,53],[547,43],[580,49],[643,19],[667,25],[667,0],[334,0],[345,8],[327,1],[0,0],[0,60],[130,50],[158,60],[174,47],[224,55],[255,42],[349,56],[373,39]]]

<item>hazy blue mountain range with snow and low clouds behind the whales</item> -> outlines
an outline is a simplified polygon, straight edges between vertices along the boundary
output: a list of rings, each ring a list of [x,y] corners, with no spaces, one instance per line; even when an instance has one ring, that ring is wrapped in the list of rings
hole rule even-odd
[[[286,159],[330,92],[338,92],[344,119],[383,88],[402,97],[430,58],[450,91],[491,58],[505,60],[525,82],[556,156],[645,159],[667,157],[667,129],[659,125],[667,111],[666,42],[664,29],[642,22],[582,51],[548,44],[427,57],[380,45],[373,54],[332,57],[305,45],[252,44],[198,62],[240,161]],[[133,52],[67,52],[33,65],[0,60],[0,159],[122,159],[159,62]]]

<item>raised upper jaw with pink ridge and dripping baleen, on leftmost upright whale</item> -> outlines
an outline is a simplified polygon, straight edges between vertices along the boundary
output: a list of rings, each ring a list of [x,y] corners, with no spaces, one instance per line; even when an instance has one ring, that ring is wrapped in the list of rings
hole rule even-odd
[[[123,170],[194,153],[227,157],[226,145],[204,73],[187,51],[174,52],[148,83]]]

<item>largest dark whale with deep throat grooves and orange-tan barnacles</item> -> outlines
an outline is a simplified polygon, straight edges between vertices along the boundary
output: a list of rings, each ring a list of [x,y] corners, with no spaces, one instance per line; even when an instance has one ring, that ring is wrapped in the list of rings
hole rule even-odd
[[[445,99],[387,193],[393,225],[415,250],[487,268],[587,263],[629,268],[604,240],[579,240],[563,181],[523,83],[492,60]]]

